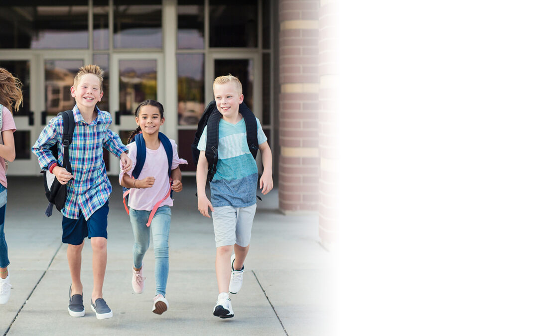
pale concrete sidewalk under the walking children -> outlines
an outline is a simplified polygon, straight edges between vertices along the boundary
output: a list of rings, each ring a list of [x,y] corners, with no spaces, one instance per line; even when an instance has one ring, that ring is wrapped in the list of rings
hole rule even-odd
[[[5,235],[13,288],[0,305],[0,333],[8,335],[322,335],[331,334],[331,253],[318,244],[317,216],[278,212],[278,190],[258,202],[243,288],[230,295],[235,317],[213,316],[218,295],[213,224],[196,209],[194,177],[174,196],[169,239],[170,270],[162,315],[151,312],[155,295],[152,245],[144,258],[146,288],[131,289],[133,235],[117,177],[110,199],[104,299],[114,317],[97,320],[90,308],[91,246],[82,256],[86,316],[67,312],[70,284],[61,215],[44,215],[40,177],[9,177]]]

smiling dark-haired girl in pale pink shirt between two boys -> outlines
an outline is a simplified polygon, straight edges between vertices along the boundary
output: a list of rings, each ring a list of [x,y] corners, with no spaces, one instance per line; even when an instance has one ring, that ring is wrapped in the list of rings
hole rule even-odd
[[[131,188],[129,194],[129,218],[134,234],[132,288],[137,294],[144,290],[143,263],[144,254],[150,246],[150,226],[155,252],[155,297],[153,312],[162,314],[168,309],[166,283],[168,281],[168,236],[173,205],[169,196],[171,191],[179,192],[181,184],[180,163],[187,161],[178,156],[178,146],[172,145],[172,174],[168,175],[168,157],[164,145],[159,140],[159,128],[164,124],[162,104],[148,99],[138,105],[136,111],[138,128],[132,132],[127,147],[132,160],[131,170],[120,173],[119,184]],[[132,171],[137,163],[136,142],[131,142],[135,135],[142,133],[146,146],[146,159],[140,175],[135,179]],[[123,168],[123,167],[122,167]],[[160,203],[159,203],[160,202]],[[152,210],[157,208],[154,216]]]

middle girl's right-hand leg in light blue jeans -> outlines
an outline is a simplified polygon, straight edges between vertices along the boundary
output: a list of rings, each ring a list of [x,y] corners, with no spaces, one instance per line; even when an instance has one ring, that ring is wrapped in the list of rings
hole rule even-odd
[[[151,221],[153,249],[155,252],[155,294],[166,296],[168,281],[168,236],[172,210],[168,205],[161,206]]]

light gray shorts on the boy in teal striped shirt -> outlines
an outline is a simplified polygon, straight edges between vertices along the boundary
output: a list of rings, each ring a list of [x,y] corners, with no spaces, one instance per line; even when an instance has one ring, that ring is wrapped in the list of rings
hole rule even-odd
[[[256,204],[246,208],[233,206],[216,206],[213,208],[213,228],[216,247],[237,244],[246,247],[250,244],[252,220],[256,213]]]

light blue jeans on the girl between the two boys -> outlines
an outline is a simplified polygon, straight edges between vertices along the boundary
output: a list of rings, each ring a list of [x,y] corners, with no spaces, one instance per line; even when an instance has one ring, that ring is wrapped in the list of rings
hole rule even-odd
[[[134,234],[133,261],[134,267],[142,267],[142,259],[150,247],[150,227],[153,235],[153,251],[155,253],[155,295],[166,294],[168,281],[168,236],[172,210],[168,205],[160,206],[155,212],[150,227],[146,226],[150,212],[129,208],[129,217]]]

